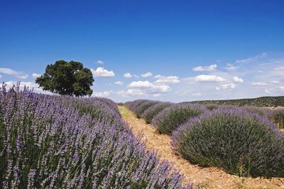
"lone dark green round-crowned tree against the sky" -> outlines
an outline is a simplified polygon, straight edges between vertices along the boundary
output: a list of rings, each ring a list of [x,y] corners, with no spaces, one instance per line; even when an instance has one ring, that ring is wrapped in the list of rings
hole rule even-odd
[[[35,79],[43,90],[59,95],[75,95],[76,97],[92,95],[94,78],[91,70],[84,68],[82,63],[58,60],[45,68],[45,73]]]

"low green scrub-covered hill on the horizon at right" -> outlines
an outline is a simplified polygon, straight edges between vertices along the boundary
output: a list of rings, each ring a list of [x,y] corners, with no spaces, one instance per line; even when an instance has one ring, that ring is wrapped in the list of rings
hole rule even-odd
[[[230,104],[234,106],[256,106],[256,107],[284,107],[284,96],[281,97],[258,97],[255,99],[224,99],[224,100],[202,100],[194,101],[200,104]]]

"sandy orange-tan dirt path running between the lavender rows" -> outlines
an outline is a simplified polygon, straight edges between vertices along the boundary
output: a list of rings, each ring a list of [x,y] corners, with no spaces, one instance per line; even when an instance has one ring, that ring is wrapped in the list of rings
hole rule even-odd
[[[146,141],[148,149],[158,151],[161,159],[167,159],[173,163],[174,168],[180,170],[185,178],[184,183],[190,180],[204,188],[284,188],[284,178],[239,178],[219,168],[201,168],[192,165],[173,152],[170,136],[156,133],[153,126],[146,124],[143,119],[137,119],[126,107],[119,107],[119,111],[136,136],[143,134],[143,140]]]

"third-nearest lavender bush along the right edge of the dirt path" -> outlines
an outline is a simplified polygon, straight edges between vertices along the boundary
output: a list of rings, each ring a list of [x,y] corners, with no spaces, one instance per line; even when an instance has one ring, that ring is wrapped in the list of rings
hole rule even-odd
[[[153,117],[155,117],[156,114],[160,113],[161,111],[163,111],[163,109],[166,109],[170,105],[172,105],[172,103],[170,102],[159,102],[157,104],[154,104],[153,106],[146,109],[141,117],[145,119],[147,124],[151,124]]]

